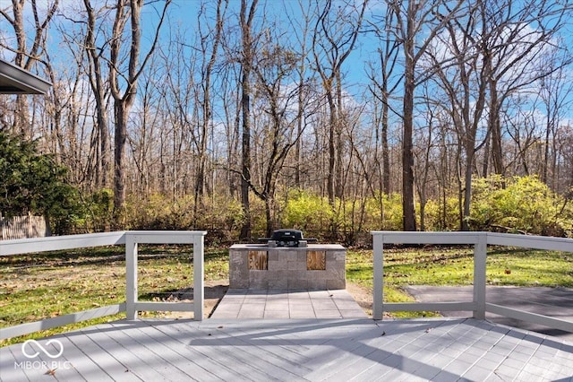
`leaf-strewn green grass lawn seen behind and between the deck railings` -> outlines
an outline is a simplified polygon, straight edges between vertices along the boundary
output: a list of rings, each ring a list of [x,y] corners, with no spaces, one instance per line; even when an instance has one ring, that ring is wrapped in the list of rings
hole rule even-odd
[[[177,300],[178,291],[192,288],[192,247],[140,246],[139,299]],[[413,300],[406,285],[469,285],[473,282],[473,251],[428,247],[384,251],[384,298]],[[372,250],[349,250],[347,282],[372,291]],[[228,283],[227,249],[205,251],[207,282]],[[559,252],[497,250],[488,253],[487,282],[494,285],[561,286],[573,288],[573,255]],[[124,247],[98,247],[0,257],[0,327],[14,326],[104,307],[125,300]],[[144,312],[143,316],[161,317]],[[422,316],[432,312],[422,312]],[[397,317],[412,317],[412,313]],[[30,334],[0,345],[39,338],[124,317],[102,317],[84,323]]]

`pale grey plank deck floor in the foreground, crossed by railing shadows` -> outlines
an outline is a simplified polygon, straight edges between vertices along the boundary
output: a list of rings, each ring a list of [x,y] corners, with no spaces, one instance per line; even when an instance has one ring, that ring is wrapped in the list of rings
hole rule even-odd
[[[471,318],[123,320],[0,348],[0,380],[573,381],[573,343]]]

